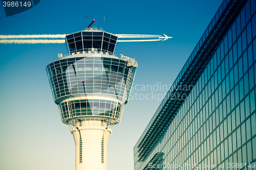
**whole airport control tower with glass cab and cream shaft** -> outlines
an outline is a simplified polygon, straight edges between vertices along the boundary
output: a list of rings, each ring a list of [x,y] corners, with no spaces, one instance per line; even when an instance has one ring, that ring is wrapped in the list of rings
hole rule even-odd
[[[66,35],[69,54],[58,54],[46,67],[61,120],[75,140],[76,170],[106,169],[106,145],[138,66],[134,59],[116,57],[117,36],[91,24]]]

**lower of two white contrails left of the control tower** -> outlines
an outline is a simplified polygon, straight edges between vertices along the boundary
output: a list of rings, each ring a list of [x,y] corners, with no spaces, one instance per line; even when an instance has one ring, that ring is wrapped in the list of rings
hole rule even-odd
[[[63,39],[0,39],[0,43],[5,44],[36,44],[36,43],[65,43]]]

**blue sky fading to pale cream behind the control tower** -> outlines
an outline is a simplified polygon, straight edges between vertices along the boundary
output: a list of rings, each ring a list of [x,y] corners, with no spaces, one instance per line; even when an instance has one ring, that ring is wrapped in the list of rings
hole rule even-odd
[[[98,28],[104,28],[105,16],[105,31],[113,34],[173,37],[117,43],[117,56],[135,58],[139,64],[137,88],[108,142],[108,169],[128,170],[134,168],[133,147],[166,92],[160,85],[173,83],[221,2],[41,1],[10,17],[0,7],[0,35],[69,34],[78,30],[78,21],[79,30],[86,27],[87,15],[88,24],[96,19]],[[0,169],[75,169],[73,136],[61,123],[45,70],[58,53],[68,53],[66,45],[0,44],[0,51]],[[155,85],[155,90],[144,90],[144,85]],[[146,94],[150,100],[143,99]]]

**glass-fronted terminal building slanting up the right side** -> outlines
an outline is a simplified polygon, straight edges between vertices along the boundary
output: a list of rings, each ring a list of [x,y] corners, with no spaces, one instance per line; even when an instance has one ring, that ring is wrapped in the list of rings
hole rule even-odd
[[[253,169],[256,3],[224,0],[134,147],[134,169]]]

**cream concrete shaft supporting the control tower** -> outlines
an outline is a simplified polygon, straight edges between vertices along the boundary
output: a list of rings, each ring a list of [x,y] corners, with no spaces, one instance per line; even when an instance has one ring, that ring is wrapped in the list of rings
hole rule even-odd
[[[71,132],[76,145],[76,170],[106,170],[106,146],[112,130],[100,119],[72,122],[78,122]]]

